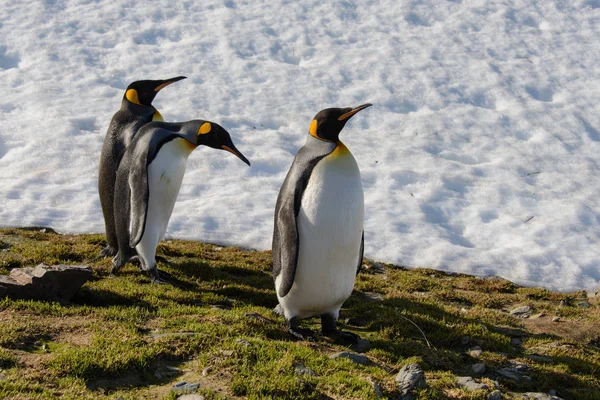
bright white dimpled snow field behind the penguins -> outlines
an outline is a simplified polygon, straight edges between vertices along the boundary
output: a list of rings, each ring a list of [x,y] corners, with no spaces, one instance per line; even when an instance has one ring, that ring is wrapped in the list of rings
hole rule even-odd
[[[251,160],[189,159],[168,236],[268,249],[312,117],[357,114],[365,255],[551,289],[600,280],[600,1],[3,1],[0,225],[102,232],[102,141],[128,83],[188,79],[167,121]]]

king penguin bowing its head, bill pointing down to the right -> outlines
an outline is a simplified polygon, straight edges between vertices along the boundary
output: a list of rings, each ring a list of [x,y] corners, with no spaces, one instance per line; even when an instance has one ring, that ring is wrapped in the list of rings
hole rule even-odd
[[[168,275],[156,267],[156,246],[167,230],[187,159],[199,145],[226,150],[250,165],[224,128],[202,120],[150,122],[125,149],[115,184],[119,250],[111,273],[137,253],[152,282],[168,282]]]

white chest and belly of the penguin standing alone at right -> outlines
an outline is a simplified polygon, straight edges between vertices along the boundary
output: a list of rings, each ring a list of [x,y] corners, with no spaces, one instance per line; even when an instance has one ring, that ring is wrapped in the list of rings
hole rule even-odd
[[[364,221],[360,171],[349,152],[313,169],[297,217],[299,251],[294,284],[279,299],[288,316],[332,313],[354,288]]]

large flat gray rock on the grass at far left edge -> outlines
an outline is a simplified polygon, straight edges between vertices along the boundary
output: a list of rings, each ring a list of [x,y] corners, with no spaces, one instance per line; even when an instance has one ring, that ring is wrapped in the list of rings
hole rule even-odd
[[[13,268],[10,275],[0,275],[0,298],[67,302],[92,275],[84,265]]]

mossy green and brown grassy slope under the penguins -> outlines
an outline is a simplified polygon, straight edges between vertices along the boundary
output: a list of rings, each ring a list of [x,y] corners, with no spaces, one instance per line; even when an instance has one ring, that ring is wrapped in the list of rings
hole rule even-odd
[[[270,252],[163,242],[158,253],[171,264],[159,266],[178,279],[175,287],[150,284],[132,265],[109,277],[110,260],[87,261],[102,245],[100,235],[0,229],[0,274],[41,262],[85,263],[95,271],[69,305],[0,299],[0,398],[168,399],[179,381],[200,382],[209,399],[370,399],[372,382],[395,398],[395,373],[418,363],[429,384],[418,398],[486,399],[492,389],[466,392],[454,377],[471,375],[493,387],[495,371],[517,360],[531,368],[531,379],[499,379],[503,398],[554,389],[565,399],[600,399],[600,306],[590,300],[591,308],[578,307],[582,293],[371,268],[342,310],[342,320],[365,320],[362,327],[341,324],[371,341],[366,355],[376,364],[361,366],[329,359],[344,350],[329,339],[297,342],[286,334],[271,312]],[[545,316],[506,312],[520,305]],[[319,328],[317,320],[304,325]],[[515,336],[521,346],[511,344]],[[468,349],[476,345],[483,353],[473,357]],[[318,376],[296,376],[298,362]],[[487,366],[483,376],[470,370],[477,362]]]

